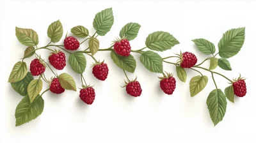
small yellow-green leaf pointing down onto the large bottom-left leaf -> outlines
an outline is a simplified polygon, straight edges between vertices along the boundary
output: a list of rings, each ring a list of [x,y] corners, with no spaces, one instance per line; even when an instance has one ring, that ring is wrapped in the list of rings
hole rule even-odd
[[[36,96],[42,91],[43,82],[41,79],[34,79],[28,85],[28,96],[32,103]]]

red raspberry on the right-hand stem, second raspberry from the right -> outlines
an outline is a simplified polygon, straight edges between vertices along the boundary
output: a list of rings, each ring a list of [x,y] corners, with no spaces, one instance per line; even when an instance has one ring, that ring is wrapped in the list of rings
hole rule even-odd
[[[191,68],[192,66],[195,66],[197,59],[194,54],[192,54],[191,52],[184,52],[182,53],[182,56],[183,59],[182,63],[180,64],[182,68]]]

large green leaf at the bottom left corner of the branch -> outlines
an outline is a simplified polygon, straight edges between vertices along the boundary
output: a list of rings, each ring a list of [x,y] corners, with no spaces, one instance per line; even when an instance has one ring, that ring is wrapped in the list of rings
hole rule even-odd
[[[29,97],[24,98],[17,105],[15,110],[16,126],[28,123],[40,116],[44,110],[44,99],[38,95],[36,99],[30,103]]]

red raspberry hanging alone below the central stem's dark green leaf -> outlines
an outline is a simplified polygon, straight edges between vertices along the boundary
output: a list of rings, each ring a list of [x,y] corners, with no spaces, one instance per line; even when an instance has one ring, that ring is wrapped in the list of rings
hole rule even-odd
[[[138,81],[129,82],[126,86],[126,92],[134,97],[140,96],[142,92],[140,82]]]

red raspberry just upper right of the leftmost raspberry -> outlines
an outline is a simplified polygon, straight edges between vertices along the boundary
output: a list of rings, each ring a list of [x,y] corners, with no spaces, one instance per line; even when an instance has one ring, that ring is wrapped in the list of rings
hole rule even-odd
[[[61,51],[52,53],[51,56],[49,56],[49,62],[57,70],[63,70],[63,68],[66,66],[66,56]]]

